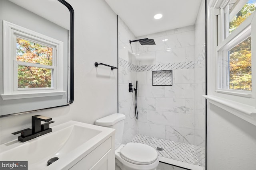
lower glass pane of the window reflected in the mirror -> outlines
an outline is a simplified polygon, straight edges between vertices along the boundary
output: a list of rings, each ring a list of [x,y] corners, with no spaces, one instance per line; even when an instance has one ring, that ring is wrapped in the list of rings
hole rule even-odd
[[[52,69],[18,65],[18,88],[52,87]]]

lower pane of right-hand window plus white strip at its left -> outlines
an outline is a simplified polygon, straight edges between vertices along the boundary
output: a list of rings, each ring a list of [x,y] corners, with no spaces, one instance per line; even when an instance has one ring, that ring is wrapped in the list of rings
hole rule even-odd
[[[221,89],[252,91],[251,37],[219,52]]]

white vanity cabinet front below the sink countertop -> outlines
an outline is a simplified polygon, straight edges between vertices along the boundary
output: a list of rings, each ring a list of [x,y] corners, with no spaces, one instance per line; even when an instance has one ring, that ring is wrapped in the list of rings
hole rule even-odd
[[[114,170],[115,153],[112,137],[98,145],[92,152],[78,161],[70,170]]]

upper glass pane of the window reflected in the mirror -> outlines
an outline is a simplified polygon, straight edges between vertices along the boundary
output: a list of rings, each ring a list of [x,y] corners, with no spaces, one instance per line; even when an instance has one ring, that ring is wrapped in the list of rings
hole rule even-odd
[[[17,38],[16,60],[52,66],[52,47]]]

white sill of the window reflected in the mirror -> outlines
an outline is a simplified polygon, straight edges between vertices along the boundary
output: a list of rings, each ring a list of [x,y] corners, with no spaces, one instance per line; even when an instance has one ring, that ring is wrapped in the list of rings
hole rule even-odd
[[[43,92],[43,93],[23,93],[23,94],[1,94],[3,100],[39,98],[49,96],[62,96],[65,91],[60,92]]]

